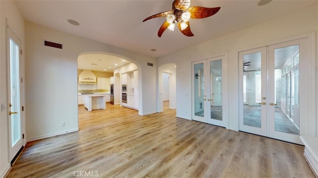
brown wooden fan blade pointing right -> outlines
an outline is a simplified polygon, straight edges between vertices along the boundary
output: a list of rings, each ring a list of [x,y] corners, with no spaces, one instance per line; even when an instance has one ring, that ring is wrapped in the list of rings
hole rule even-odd
[[[191,18],[206,18],[216,14],[221,7],[200,7],[193,6],[189,7],[189,12],[191,13]]]

